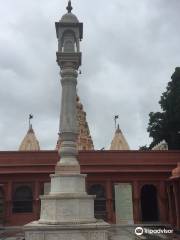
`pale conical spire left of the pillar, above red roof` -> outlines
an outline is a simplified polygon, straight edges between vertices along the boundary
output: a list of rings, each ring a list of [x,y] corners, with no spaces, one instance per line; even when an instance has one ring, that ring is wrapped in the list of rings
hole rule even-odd
[[[19,151],[39,151],[40,146],[36,138],[32,125],[30,125],[29,130],[21,142]]]

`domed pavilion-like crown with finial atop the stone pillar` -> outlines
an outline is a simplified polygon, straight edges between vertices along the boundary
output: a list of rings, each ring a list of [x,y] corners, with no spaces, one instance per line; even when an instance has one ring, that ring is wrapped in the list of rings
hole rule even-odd
[[[76,69],[81,65],[81,52],[79,42],[83,38],[83,23],[71,12],[71,1],[68,2],[67,13],[59,22],[55,23],[58,38],[57,63],[62,68],[69,61]]]

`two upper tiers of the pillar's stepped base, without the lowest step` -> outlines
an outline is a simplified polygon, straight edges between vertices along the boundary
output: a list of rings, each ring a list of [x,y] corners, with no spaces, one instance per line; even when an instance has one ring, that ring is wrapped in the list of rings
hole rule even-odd
[[[52,174],[51,191],[41,196],[39,224],[94,223],[94,198],[85,191],[84,174]]]

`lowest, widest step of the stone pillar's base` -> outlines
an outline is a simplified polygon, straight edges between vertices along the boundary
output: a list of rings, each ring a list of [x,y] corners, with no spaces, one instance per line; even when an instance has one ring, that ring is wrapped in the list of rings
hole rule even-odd
[[[109,224],[46,225],[32,222],[24,226],[26,240],[108,240]]]

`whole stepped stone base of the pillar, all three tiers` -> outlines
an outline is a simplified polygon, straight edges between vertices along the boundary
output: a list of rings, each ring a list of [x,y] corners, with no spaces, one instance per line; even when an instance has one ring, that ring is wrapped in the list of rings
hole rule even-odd
[[[38,221],[24,226],[26,240],[108,240],[110,225],[94,217],[94,198],[85,174],[55,173],[51,190],[41,196]]]

